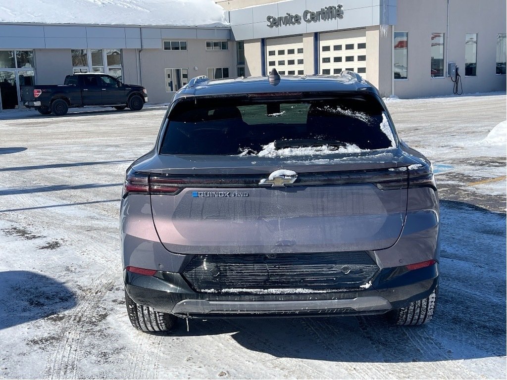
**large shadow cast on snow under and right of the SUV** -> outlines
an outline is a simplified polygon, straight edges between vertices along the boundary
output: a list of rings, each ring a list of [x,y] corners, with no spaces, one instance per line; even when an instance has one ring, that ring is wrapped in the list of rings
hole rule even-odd
[[[505,214],[441,203],[440,292],[433,320],[390,326],[380,316],[191,320],[171,335],[232,333],[276,358],[343,362],[443,361],[504,356]]]

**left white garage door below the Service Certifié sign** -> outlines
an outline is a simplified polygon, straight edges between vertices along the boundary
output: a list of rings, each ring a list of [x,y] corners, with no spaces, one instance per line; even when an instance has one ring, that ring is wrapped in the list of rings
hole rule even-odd
[[[280,75],[303,75],[303,36],[266,40],[266,67]]]

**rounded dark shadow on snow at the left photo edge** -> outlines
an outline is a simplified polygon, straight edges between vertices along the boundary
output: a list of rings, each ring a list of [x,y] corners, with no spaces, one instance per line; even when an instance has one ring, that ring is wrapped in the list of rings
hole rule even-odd
[[[46,318],[77,305],[64,284],[40,273],[0,272],[0,330]]]

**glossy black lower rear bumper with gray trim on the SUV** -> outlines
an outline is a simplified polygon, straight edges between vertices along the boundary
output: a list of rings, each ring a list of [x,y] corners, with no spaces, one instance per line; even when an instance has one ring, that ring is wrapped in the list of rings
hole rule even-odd
[[[364,315],[384,314],[427,297],[438,286],[438,272],[437,263],[401,274],[391,268],[382,270],[365,289],[285,289],[268,294],[198,293],[180,274],[170,272],[142,276],[124,271],[124,280],[135,302],[180,317]]]

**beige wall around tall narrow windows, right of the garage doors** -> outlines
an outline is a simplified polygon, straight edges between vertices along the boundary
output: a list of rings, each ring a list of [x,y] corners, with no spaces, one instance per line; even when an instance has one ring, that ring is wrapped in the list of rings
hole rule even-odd
[[[429,15],[416,20],[415,15]],[[395,31],[408,32],[408,73],[406,80],[394,80],[394,95],[400,98],[453,93],[448,77],[430,77],[431,33],[445,35],[444,70],[447,62],[459,67],[463,93],[505,90],[505,75],[497,75],[496,36],[505,33],[505,2],[449,1],[449,33],[447,2],[443,0],[399,0]],[[477,33],[477,77],[465,77],[465,34]]]

